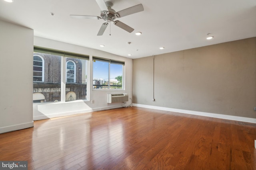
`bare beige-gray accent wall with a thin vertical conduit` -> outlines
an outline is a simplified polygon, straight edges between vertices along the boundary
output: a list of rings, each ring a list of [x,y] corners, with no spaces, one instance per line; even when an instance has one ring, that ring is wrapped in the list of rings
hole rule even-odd
[[[133,103],[256,118],[256,37],[134,59]]]

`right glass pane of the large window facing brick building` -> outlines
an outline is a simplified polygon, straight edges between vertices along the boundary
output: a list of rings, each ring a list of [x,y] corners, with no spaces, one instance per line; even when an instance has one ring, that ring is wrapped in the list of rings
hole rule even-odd
[[[66,102],[87,99],[87,74],[86,58],[66,57]]]

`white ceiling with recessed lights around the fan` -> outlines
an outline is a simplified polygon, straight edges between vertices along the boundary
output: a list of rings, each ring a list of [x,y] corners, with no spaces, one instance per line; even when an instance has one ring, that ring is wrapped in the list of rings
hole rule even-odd
[[[134,28],[132,33],[112,22],[111,35],[108,25],[104,34],[97,36],[103,20],[70,18],[70,14],[100,16],[96,0],[0,0],[0,20],[34,29],[38,37],[132,59],[256,37],[256,0],[105,1],[112,2],[116,12],[144,6],[143,12],[118,19]],[[142,35],[135,35],[138,31]],[[207,33],[214,39],[206,40]]]

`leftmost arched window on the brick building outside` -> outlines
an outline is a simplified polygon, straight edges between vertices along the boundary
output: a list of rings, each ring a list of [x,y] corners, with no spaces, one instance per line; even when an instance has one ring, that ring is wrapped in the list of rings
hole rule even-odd
[[[44,59],[40,55],[33,57],[33,81],[44,82]]]

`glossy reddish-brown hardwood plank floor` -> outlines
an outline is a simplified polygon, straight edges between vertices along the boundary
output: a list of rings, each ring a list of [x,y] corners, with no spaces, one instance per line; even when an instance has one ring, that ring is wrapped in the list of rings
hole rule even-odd
[[[256,124],[140,107],[0,134],[0,160],[47,170],[256,170]]]

